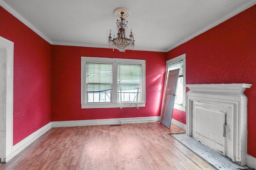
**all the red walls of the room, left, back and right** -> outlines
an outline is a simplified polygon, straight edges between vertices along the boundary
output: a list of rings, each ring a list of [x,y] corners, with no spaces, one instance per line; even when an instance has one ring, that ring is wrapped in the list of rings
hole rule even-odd
[[[14,145],[50,121],[160,116],[165,61],[186,53],[186,84],[253,84],[245,94],[248,154],[256,157],[256,5],[169,51],[167,56],[50,45],[2,7],[0,16],[0,36],[14,42]],[[145,59],[146,107],[81,109],[81,56]]]

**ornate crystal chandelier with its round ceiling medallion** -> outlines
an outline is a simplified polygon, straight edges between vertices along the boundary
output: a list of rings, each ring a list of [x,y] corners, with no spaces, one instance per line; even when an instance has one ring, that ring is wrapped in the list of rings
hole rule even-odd
[[[126,37],[125,29],[128,28],[128,21],[124,18],[127,18],[130,15],[130,11],[126,8],[117,8],[114,11],[114,14],[117,17],[120,17],[120,20],[116,20],[116,29],[118,29],[117,37],[111,37],[111,29],[109,31],[108,44],[118,49],[120,52],[124,52],[126,49],[132,47],[134,49],[135,41],[132,33],[132,29],[130,31],[129,38]]]

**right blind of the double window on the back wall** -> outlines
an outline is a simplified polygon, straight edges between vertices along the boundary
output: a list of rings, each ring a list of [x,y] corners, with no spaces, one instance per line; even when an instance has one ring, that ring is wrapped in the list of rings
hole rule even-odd
[[[141,89],[141,65],[118,64],[118,90]]]

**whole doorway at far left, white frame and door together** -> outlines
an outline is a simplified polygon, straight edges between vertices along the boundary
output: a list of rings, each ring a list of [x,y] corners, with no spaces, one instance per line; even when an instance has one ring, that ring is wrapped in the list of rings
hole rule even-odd
[[[13,146],[14,43],[0,37],[0,158],[8,162]]]

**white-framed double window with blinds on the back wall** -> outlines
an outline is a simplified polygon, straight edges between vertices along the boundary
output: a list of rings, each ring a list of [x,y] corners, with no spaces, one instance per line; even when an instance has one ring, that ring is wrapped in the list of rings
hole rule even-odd
[[[81,57],[82,108],[144,107],[146,61]]]

